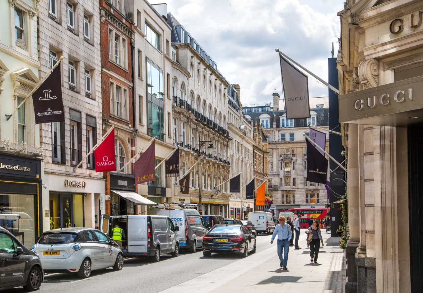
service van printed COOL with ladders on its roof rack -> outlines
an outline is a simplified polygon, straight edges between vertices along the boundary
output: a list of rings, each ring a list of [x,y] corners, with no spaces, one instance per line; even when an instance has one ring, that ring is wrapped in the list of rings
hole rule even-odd
[[[197,247],[203,246],[203,236],[207,233],[206,225],[195,208],[197,205],[165,204],[163,207],[159,205],[157,211],[160,216],[170,217],[173,225],[179,227],[177,232],[179,245],[181,249],[189,249],[190,252],[196,252]]]

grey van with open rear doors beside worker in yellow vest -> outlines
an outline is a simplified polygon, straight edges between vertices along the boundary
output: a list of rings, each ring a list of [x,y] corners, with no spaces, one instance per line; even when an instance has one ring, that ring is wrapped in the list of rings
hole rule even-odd
[[[179,241],[175,227],[168,216],[126,215],[109,216],[102,214],[100,228],[112,238],[112,229],[119,225],[126,235],[122,239],[124,257],[152,257],[154,262],[160,260],[161,254],[179,255]]]

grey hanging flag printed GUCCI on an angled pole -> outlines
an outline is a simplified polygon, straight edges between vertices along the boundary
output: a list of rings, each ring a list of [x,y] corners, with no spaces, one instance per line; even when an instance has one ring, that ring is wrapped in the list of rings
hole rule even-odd
[[[292,66],[282,56],[280,56],[280,71],[282,74],[286,119],[310,118],[307,76]]]

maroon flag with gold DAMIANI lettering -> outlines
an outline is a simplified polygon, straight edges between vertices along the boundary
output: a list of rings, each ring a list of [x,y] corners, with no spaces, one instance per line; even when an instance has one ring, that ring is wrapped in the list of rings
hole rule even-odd
[[[156,141],[148,147],[148,149],[137,159],[134,164],[135,184],[148,181],[156,181],[156,172],[154,170],[154,156],[156,149]]]

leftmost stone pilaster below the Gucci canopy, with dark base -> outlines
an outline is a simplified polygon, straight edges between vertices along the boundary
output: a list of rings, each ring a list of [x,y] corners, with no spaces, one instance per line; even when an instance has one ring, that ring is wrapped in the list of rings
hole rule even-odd
[[[348,227],[349,238],[346,243],[346,284],[345,292],[357,292],[357,268],[355,253],[360,242],[360,198],[358,172],[358,125],[348,125]]]

